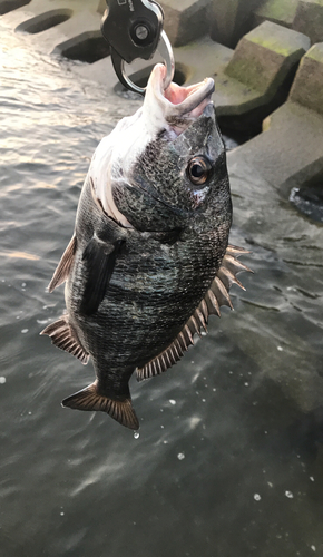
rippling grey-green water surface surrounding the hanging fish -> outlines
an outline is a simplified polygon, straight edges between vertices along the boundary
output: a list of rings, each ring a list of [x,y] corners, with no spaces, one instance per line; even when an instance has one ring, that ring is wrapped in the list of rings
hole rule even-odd
[[[163,377],[134,381],[139,437],[62,409],[92,370],[39,338],[63,309],[46,286],[91,154],[138,101],[1,35],[2,555],[323,555],[322,227],[233,176],[231,240],[255,271],[236,311]]]

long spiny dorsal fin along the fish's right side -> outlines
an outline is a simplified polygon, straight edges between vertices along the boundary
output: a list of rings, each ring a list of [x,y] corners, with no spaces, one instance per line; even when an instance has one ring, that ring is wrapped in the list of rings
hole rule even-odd
[[[200,335],[202,329],[207,332],[207,320],[209,315],[218,315],[221,317],[221,305],[227,305],[233,309],[228,291],[232,284],[237,284],[245,290],[242,283],[236,278],[241,271],[253,272],[246,265],[237,261],[236,257],[243,253],[249,253],[243,247],[228,245],[223,257],[222,265],[214,278],[205,297],[189,317],[183,331],[176,336],[175,341],[164,350],[159,355],[150,360],[143,368],[137,369],[137,380],[143,381],[154,375],[159,375],[170,365],[177,363],[190,344],[194,344],[194,334]]]

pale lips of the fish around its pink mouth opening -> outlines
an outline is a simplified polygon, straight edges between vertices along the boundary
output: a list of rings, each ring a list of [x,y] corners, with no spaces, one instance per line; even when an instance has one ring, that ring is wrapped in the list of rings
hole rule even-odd
[[[165,90],[165,77],[166,67],[163,63],[157,63],[151,71],[147,87],[147,92],[153,92],[163,109],[165,119],[198,118],[205,106],[212,101],[211,97],[215,90],[214,80],[206,78],[199,84],[188,87],[172,82]]]

